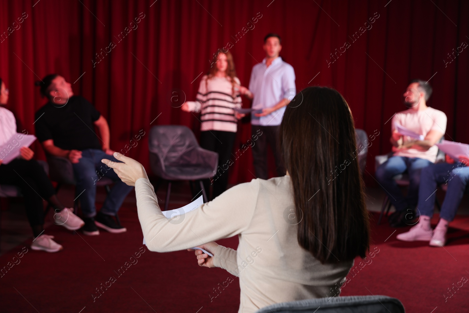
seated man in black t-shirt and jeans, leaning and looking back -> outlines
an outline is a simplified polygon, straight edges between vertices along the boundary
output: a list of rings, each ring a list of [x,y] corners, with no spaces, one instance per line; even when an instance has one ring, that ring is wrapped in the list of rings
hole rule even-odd
[[[85,222],[83,233],[99,235],[96,226],[111,233],[125,232],[127,229],[114,221],[113,216],[133,187],[123,183],[111,168],[101,163],[102,159],[119,162],[109,148],[106,119],[86,99],[74,96],[71,84],[62,76],[47,75],[37,84],[49,102],[36,112],[36,136],[46,153],[72,162]],[[94,131],[95,126],[100,137]],[[115,183],[96,214],[96,182],[101,176]]]

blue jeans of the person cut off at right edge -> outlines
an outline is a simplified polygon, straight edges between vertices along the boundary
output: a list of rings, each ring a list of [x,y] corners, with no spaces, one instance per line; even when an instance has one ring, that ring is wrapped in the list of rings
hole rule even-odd
[[[437,184],[447,184],[440,217],[453,221],[469,181],[469,167],[463,166],[462,163],[433,164],[422,170],[421,181],[417,206],[420,214],[430,217],[433,215]]]

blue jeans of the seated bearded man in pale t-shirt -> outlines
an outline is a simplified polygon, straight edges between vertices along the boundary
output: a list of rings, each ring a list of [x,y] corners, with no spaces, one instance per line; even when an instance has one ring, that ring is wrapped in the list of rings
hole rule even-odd
[[[376,180],[389,196],[396,211],[402,211],[406,206],[417,205],[420,172],[422,168],[426,168],[430,164],[433,163],[425,159],[393,156],[378,167],[375,173]],[[393,177],[406,170],[409,176],[409,186],[407,196],[404,197]]]

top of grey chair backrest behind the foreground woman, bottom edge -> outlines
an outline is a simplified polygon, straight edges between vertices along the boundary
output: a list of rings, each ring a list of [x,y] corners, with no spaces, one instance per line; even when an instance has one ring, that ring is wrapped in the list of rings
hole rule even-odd
[[[277,303],[256,313],[405,313],[401,301],[386,296],[347,296]]]

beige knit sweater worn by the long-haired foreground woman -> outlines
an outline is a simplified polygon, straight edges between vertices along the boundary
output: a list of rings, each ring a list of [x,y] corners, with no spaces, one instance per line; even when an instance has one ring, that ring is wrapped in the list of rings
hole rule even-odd
[[[161,213],[151,183],[135,183],[138,219],[150,251],[169,252],[238,235],[237,250],[218,246],[216,267],[239,277],[238,312],[274,303],[331,297],[353,261],[321,264],[296,237],[290,176],[236,185],[177,220]]]

